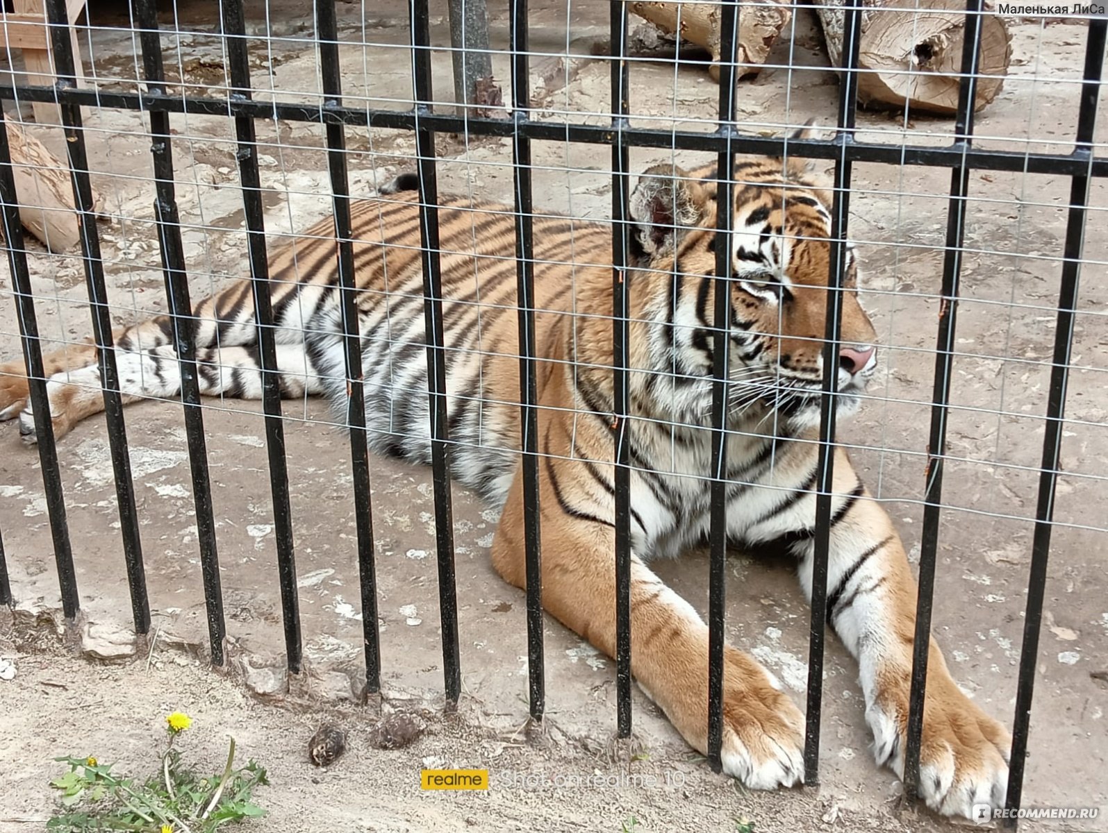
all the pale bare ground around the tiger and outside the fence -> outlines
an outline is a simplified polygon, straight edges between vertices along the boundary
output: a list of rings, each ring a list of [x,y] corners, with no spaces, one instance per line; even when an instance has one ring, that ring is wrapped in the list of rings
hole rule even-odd
[[[252,7],[258,97],[317,102],[311,23],[302,4],[271,0]],[[437,4],[438,8],[439,4]],[[534,1],[532,88],[536,117],[606,123],[608,66],[593,55],[606,31],[605,4]],[[572,25],[566,23],[570,9]],[[171,78],[194,93],[224,94],[223,55],[212,37],[211,7],[176,6],[178,39],[166,39]],[[163,20],[170,19],[171,8]],[[90,83],[136,89],[136,60],[125,23],[99,11],[82,35]],[[113,17],[114,14],[114,17]],[[494,47],[506,48],[506,19],[492,10]],[[402,109],[410,99],[407,7],[383,0],[362,13],[342,6],[340,59],[348,102]],[[1017,152],[1067,152],[1076,124],[1086,30],[1076,23],[1013,21],[1013,68],[1004,91],[976,121],[981,144]],[[770,66],[740,88],[748,130],[777,131],[811,116],[833,123],[838,84],[808,9]],[[434,42],[448,42],[444,7],[432,20]],[[572,54],[558,62],[557,55]],[[432,55],[435,89],[449,97],[450,56]],[[787,69],[787,64],[792,69]],[[507,59],[493,59],[497,80]],[[560,69],[562,68],[562,69]],[[563,71],[564,70],[564,71]],[[268,91],[268,92],[267,92]],[[505,84],[505,99],[507,89]],[[664,128],[711,130],[718,88],[702,68],[642,59],[632,65],[635,122]],[[1101,113],[1106,106],[1101,103]],[[104,197],[100,224],[113,318],[129,323],[164,309],[153,228],[150,148],[140,113],[85,111],[94,184]],[[900,145],[942,144],[953,123],[902,114],[863,113],[865,138]],[[1108,136],[1101,117],[1098,138]],[[173,151],[185,224],[193,298],[245,272],[243,208],[233,126],[226,119],[175,116]],[[322,131],[315,125],[259,122],[266,227],[276,240],[330,209]],[[63,154],[57,127],[37,131]],[[413,146],[400,132],[348,131],[353,193],[410,166]],[[1102,147],[1104,145],[1101,145]],[[507,140],[439,138],[443,192],[511,202]],[[1101,151],[1102,152],[1102,151]],[[535,193],[544,207],[603,219],[611,204],[611,148],[536,142]],[[670,153],[636,150],[633,166]],[[696,154],[679,161],[696,164]],[[882,362],[862,413],[840,438],[870,489],[884,501],[911,557],[919,556],[926,432],[934,369],[946,171],[856,164],[851,234],[863,264],[863,301],[878,332]],[[1069,182],[1064,177],[975,172],[967,208],[957,350],[948,431],[951,460],[943,493],[934,630],[960,682],[1010,726],[1023,634],[1023,610],[1042,454],[1045,397]],[[1064,438],[1064,470],[1046,588],[1035,709],[1024,798],[1028,805],[1100,806],[1091,827],[1108,830],[1108,187],[1094,184],[1086,265],[1074,344]],[[538,200],[536,200],[538,202]],[[89,335],[80,257],[31,253],[44,336],[60,342]],[[11,282],[0,270],[0,296]],[[0,304],[0,354],[19,352],[10,300]],[[553,729],[546,742],[521,740],[526,718],[523,597],[488,564],[495,515],[454,492],[463,698],[456,718],[441,717],[442,668],[434,569],[430,472],[373,460],[372,501],[379,577],[379,627],[386,698],[355,702],[363,675],[361,610],[351,501],[349,448],[317,401],[286,402],[293,521],[306,671],[285,671],[275,568],[271,505],[259,404],[212,400],[205,426],[217,512],[227,615],[229,671],[209,670],[196,526],[181,407],[144,402],[126,411],[144,557],[154,613],[153,646],[129,626],[119,521],[101,418],[59,444],[74,539],[82,613],[64,638],[39,461],[19,442],[14,423],[0,425],[0,529],[16,595],[0,613],[0,657],[18,673],[0,680],[0,781],[7,800],[0,830],[34,829],[49,815],[50,758],[95,751],[138,762],[160,731],[163,712],[181,708],[212,734],[197,731],[198,751],[217,753],[234,731],[244,755],[270,767],[273,815],[265,829],[294,830],[611,830],[630,816],[636,830],[732,830],[747,816],[758,830],[919,829],[929,816],[900,815],[900,786],[878,771],[868,751],[855,668],[829,642],[822,723],[822,785],[777,795],[750,794],[693,760],[654,707],[635,693],[635,727],[648,750],[636,762],[653,772],[680,771],[681,790],[491,790],[437,795],[418,790],[428,760],[488,767],[496,773],[616,772],[598,757],[615,726],[613,664],[556,623],[546,625],[546,679]],[[659,573],[701,611],[707,561],[691,554]],[[807,680],[808,610],[787,569],[741,553],[729,559],[728,637],[778,672],[798,702]],[[57,642],[57,644],[55,644]],[[72,652],[109,659],[93,665]],[[61,683],[61,685],[55,685]],[[416,745],[384,752],[369,745],[380,710],[425,710],[430,728]],[[324,714],[352,733],[351,754],[315,772],[304,747]],[[1075,765],[1075,762],[1079,764]],[[664,780],[664,779],[663,779]],[[494,781],[495,783],[495,781]],[[459,808],[459,802],[465,804]],[[468,820],[472,820],[468,821]],[[360,826],[359,826],[360,825]]]

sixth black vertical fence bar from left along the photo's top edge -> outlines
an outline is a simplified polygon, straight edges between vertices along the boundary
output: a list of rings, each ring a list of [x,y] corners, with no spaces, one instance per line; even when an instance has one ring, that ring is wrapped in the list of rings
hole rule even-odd
[[[542,531],[538,520],[538,394],[535,379],[535,265],[531,140],[519,130],[531,109],[527,0],[511,0],[513,172],[515,182],[516,307],[520,323],[520,411],[523,419],[523,538],[527,574],[527,675],[531,717],[546,702],[543,681]]]

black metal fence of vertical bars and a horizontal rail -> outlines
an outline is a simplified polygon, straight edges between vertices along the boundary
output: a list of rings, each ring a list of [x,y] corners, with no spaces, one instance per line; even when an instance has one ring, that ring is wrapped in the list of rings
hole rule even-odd
[[[429,367],[431,403],[431,438],[433,467],[434,528],[441,600],[442,654],[444,689],[448,702],[456,702],[461,693],[459,659],[458,609],[454,578],[454,545],[448,455],[450,436],[447,420],[445,349],[443,343],[442,304],[440,279],[438,210],[439,188],[437,168],[437,137],[441,134],[468,136],[499,136],[511,141],[516,214],[517,292],[521,378],[521,414],[523,424],[524,494],[526,506],[526,623],[530,673],[530,710],[541,718],[545,708],[544,662],[542,634],[542,598],[540,586],[541,529],[538,525],[538,463],[536,435],[535,310],[533,265],[535,247],[532,232],[533,184],[532,142],[555,141],[587,143],[612,148],[612,222],[613,236],[613,292],[615,315],[613,344],[615,416],[624,421],[630,413],[627,383],[628,360],[628,298],[629,287],[623,279],[628,266],[628,196],[632,169],[632,147],[701,151],[718,155],[721,199],[725,206],[719,216],[718,230],[727,235],[732,228],[732,200],[735,155],[756,153],[811,157],[833,163],[834,206],[832,212],[832,256],[829,286],[843,287],[845,275],[845,247],[851,217],[850,197],[852,171],[855,163],[882,163],[890,166],[931,166],[951,172],[951,186],[946,210],[945,254],[942,270],[941,298],[943,313],[934,340],[934,390],[931,403],[931,424],[926,441],[929,474],[924,498],[922,546],[919,563],[919,616],[915,625],[915,651],[912,675],[910,742],[905,783],[913,791],[919,778],[920,738],[923,722],[924,681],[927,666],[927,639],[931,631],[932,596],[940,541],[940,516],[943,511],[943,474],[947,460],[947,418],[951,384],[954,373],[956,347],[956,310],[960,298],[962,257],[965,251],[964,233],[971,172],[1016,172],[1024,174],[1054,174],[1070,178],[1067,204],[1065,248],[1060,258],[1060,282],[1056,304],[1056,336],[1049,367],[1049,388],[1044,394],[1045,433],[1042,443],[1042,465],[1038,474],[1038,503],[1034,517],[1034,542],[1027,584],[1026,618],[1023,645],[1019,651],[1018,686],[1016,690],[1015,731],[1010,757],[1010,780],[1007,806],[1018,808],[1022,801],[1024,761],[1027,752],[1032,695],[1035,683],[1036,656],[1043,621],[1044,588],[1050,553],[1050,536],[1055,495],[1060,473],[1064,411],[1067,381],[1073,368],[1073,344],[1078,302],[1078,277],[1084,259],[1084,237],[1087,222],[1090,183],[1108,176],[1108,157],[1095,154],[1094,128],[1101,72],[1105,59],[1105,39],[1108,20],[1095,17],[1085,34],[1084,84],[1080,90],[1076,116],[1076,137],[1071,148],[1058,152],[987,150],[974,141],[974,107],[978,81],[977,49],[981,21],[986,13],[983,0],[968,0],[965,10],[966,49],[962,56],[961,88],[956,125],[948,141],[930,144],[891,145],[860,138],[855,124],[856,82],[859,78],[859,43],[863,7],[845,8],[843,74],[839,91],[838,124],[834,137],[828,141],[784,138],[745,131],[736,116],[738,44],[737,18],[739,3],[722,4],[722,42],[719,83],[718,122],[711,132],[691,128],[659,130],[634,124],[629,105],[628,12],[626,3],[611,4],[611,121],[599,124],[588,120],[538,120],[532,117],[530,72],[532,52],[529,48],[527,0],[511,0],[511,115],[495,117],[478,115],[461,110],[458,114],[435,110],[431,88],[432,43],[429,23],[429,1],[412,0],[410,4],[410,54],[413,82],[412,100],[408,109],[375,109],[343,103],[342,68],[339,62],[340,40],[337,30],[335,0],[315,3],[315,40],[318,47],[318,65],[321,91],[318,103],[300,103],[280,95],[255,96],[249,63],[252,37],[247,34],[243,0],[223,0],[220,3],[222,39],[226,53],[229,94],[209,97],[201,94],[171,92],[164,68],[162,33],[154,0],[134,0],[133,28],[141,49],[142,80],[145,90],[138,92],[111,92],[103,89],[82,88],[76,81],[78,56],[73,53],[66,20],[65,0],[48,0],[57,83],[52,86],[9,84],[0,89],[0,97],[16,102],[54,102],[60,106],[62,127],[66,137],[69,165],[78,210],[81,215],[81,250],[83,256],[89,309],[99,350],[103,398],[106,410],[107,438],[115,490],[119,500],[123,551],[126,558],[127,580],[133,608],[134,628],[145,634],[151,627],[150,603],[143,568],[143,547],[140,539],[138,510],[135,505],[127,433],[123,418],[120,380],[112,348],[111,308],[104,280],[103,258],[95,223],[90,165],[85,153],[86,130],[82,125],[82,107],[119,109],[141,112],[148,119],[151,163],[156,184],[157,243],[164,268],[165,294],[173,320],[173,343],[179,358],[184,419],[188,459],[192,466],[193,493],[196,510],[197,539],[207,606],[207,627],[212,661],[225,661],[225,611],[220,590],[217,555],[216,523],[213,511],[208,453],[205,445],[203,405],[199,394],[195,344],[192,337],[194,321],[191,317],[193,299],[189,297],[181,218],[175,195],[175,168],[171,150],[175,114],[203,114],[226,116],[234,123],[237,142],[238,173],[242,181],[244,217],[253,286],[253,304],[257,315],[257,335],[260,361],[265,370],[264,411],[265,435],[269,459],[269,484],[273,498],[273,517],[276,526],[276,548],[279,564],[280,595],[283,601],[284,636],[288,668],[296,673],[301,668],[301,631],[297,598],[297,570],[294,558],[294,529],[289,506],[289,485],[285,453],[285,422],[281,413],[277,357],[274,340],[274,320],[268,284],[266,229],[264,227],[263,188],[259,181],[258,141],[255,125],[258,121],[322,123],[326,125],[326,147],[329,163],[334,218],[338,241],[339,275],[342,288],[342,312],[347,376],[350,401],[348,410],[350,461],[353,477],[353,498],[357,517],[357,555],[361,578],[362,626],[365,638],[365,669],[367,691],[373,692],[381,685],[381,657],[379,650],[377,616],[377,578],[375,575],[373,524],[370,506],[370,475],[372,462],[367,453],[365,401],[361,352],[359,349],[358,319],[355,312],[355,265],[350,234],[351,193],[348,184],[348,156],[346,141],[351,130],[396,128],[416,136],[416,164],[419,182],[420,233],[422,239],[423,308],[429,335],[427,360]],[[12,176],[8,137],[0,125],[0,199],[3,205],[3,234],[13,286],[14,302],[29,377],[34,424],[39,438],[38,453],[41,462],[44,493],[49,510],[53,551],[64,616],[73,618],[79,608],[76,575],[72,555],[72,531],[66,521],[66,500],[62,492],[50,409],[47,381],[35,319],[35,298],[29,276],[27,249],[20,226],[19,200]],[[718,247],[717,253],[726,253]],[[718,257],[719,286],[727,286],[731,264],[726,255]],[[719,291],[716,320],[727,319],[728,294]],[[721,300],[719,300],[721,299]],[[840,341],[842,292],[827,294],[828,316],[824,333],[824,372],[822,418],[820,422],[821,455],[817,477],[818,508],[815,518],[815,561],[810,623],[809,676],[807,692],[807,731],[804,765],[809,783],[819,781],[819,730],[821,699],[823,696],[823,647],[827,620],[827,570],[829,529],[832,512],[832,473],[835,436],[837,357]],[[720,306],[722,305],[722,306]],[[728,332],[715,332],[716,356],[726,354]],[[717,395],[712,409],[714,465],[717,471],[725,459],[728,435],[724,430],[726,399],[722,394],[727,368],[719,361],[715,366]],[[632,729],[632,671],[630,671],[630,491],[627,432],[616,432],[615,495],[616,495],[616,597],[613,605],[617,616],[617,714],[618,733],[628,736]],[[716,477],[711,484],[710,534],[710,672],[709,672],[709,751],[712,765],[720,768],[722,739],[722,669],[725,617],[725,551],[727,482]],[[12,590],[8,568],[0,548],[0,600],[10,604]]]

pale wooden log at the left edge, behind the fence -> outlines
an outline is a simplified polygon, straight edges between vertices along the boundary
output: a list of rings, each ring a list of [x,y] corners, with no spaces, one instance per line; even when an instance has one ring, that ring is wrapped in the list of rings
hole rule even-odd
[[[51,251],[69,251],[81,239],[69,167],[23,126],[7,120],[4,123],[19,219]],[[100,205],[100,196],[93,192],[93,210],[99,212]]]

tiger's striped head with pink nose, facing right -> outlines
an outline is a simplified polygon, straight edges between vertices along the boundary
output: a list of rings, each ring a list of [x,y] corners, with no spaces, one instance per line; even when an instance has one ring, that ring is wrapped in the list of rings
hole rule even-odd
[[[736,166],[730,234],[730,416],[776,411],[801,431],[819,423],[823,333],[831,265],[831,199],[802,166],[780,160]],[[710,401],[717,246],[715,171],[646,171],[630,198],[630,256],[653,291],[649,357],[671,379],[675,408]],[[876,367],[876,333],[858,300],[858,266],[847,244],[839,349],[839,413],[856,410]]]

